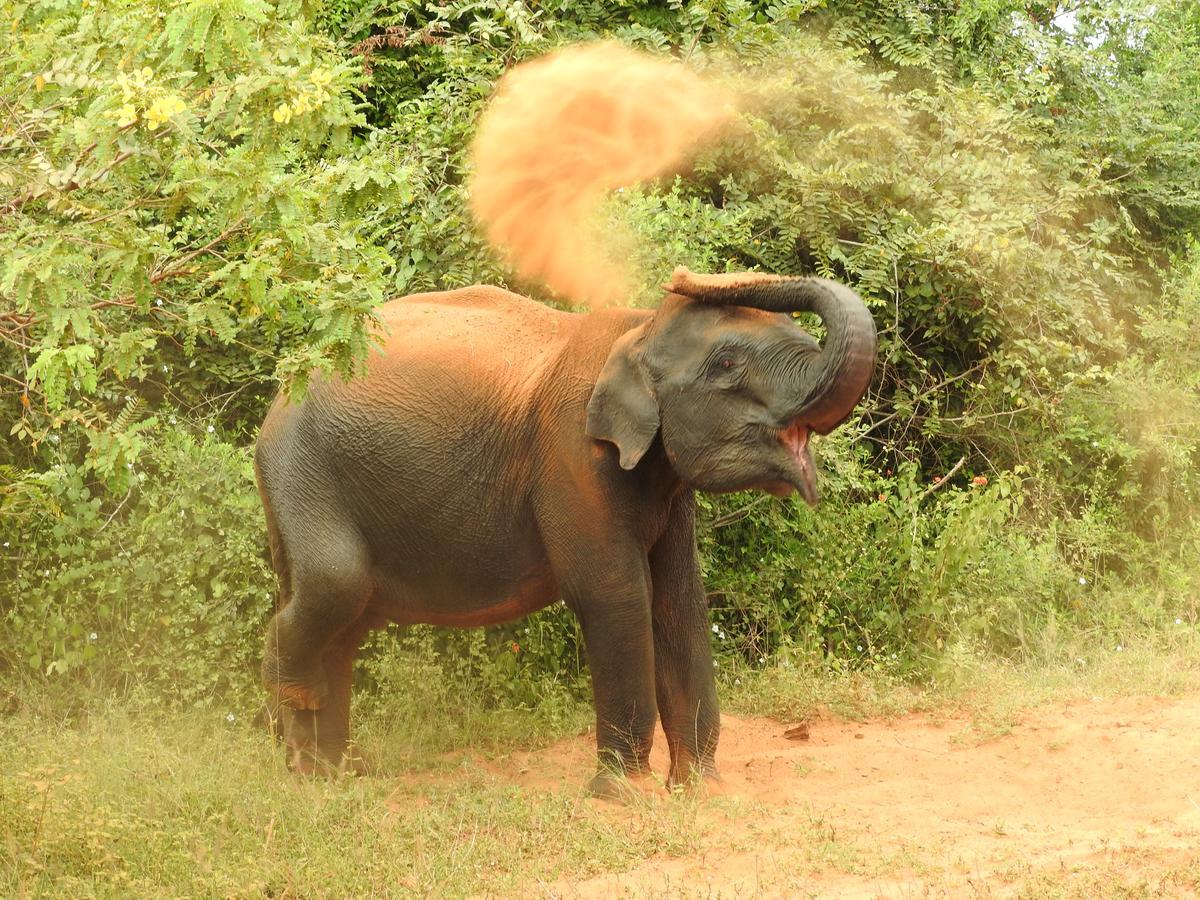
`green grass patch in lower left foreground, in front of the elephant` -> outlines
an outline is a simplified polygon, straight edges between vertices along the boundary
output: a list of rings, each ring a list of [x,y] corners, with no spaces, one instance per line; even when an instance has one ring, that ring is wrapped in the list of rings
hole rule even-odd
[[[0,721],[0,772],[8,896],[521,893],[685,852],[694,834],[688,802],[584,799],[587,772],[538,792],[469,766],[398,787],[296,780],[265,734],[199,713],[25,710]]]

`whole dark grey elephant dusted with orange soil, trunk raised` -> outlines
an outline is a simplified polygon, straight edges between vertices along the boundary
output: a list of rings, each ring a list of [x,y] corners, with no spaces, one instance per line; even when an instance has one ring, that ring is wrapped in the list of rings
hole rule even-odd
[[[562,599],[592,677],[592,791],[647,770],[659,718],[668,784],[718,778],[695,492],[815,504],[810,437],[863,397],[876,334],[821,277],[679,266],[664,290],[656,310],[590,312],[486,286],[391,300],[362,377],[275,400],[254,451],[280,581],[263,680],[294,769],[347,764],[370,629]]]

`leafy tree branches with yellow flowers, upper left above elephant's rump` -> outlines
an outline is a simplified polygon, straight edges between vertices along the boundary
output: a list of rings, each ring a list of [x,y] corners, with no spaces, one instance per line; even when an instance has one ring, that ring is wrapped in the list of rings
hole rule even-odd
[[[302,389],[366,353],[392,264],[336,214],[403,202],[407,170],[348,143],[354,66],[298,12],[13,10],[0,400],[20,398],[12,434],[31,449],[64,427],[98,442],[121,396],[157,401],[180,368],[202,390],[272,374]]]

